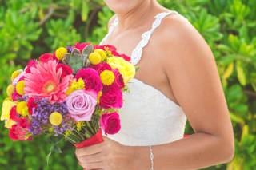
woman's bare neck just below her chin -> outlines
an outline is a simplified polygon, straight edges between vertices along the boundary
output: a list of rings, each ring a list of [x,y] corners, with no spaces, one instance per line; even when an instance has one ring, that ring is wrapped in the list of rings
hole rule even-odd
[[[158,2],[155,0],[142,1],[126,13],[116,13],[118,17],[118,30],[127,30],[131,27],[141,26],[147,18],[152,18],[157,9]]]

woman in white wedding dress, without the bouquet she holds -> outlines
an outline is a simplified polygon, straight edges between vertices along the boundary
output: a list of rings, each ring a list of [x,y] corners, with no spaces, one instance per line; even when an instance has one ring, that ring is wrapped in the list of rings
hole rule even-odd
[[[115,12],[101,44],[138,65],[120,110],[122,129],[76,150],[103,170],[198,169],[227,163],[234,134],[213,53],[188,20],[157,0],[105,0]],[[194,134],[183,137],[187,120]]]

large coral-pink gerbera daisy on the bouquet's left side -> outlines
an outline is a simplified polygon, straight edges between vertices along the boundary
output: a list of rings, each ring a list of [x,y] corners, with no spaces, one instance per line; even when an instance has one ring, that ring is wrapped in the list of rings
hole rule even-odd
[[[29,97],[46,97],[50,102],[63,101],[72,75],[62,77],[57,61],[40,62],[25,74],[25,93]]]

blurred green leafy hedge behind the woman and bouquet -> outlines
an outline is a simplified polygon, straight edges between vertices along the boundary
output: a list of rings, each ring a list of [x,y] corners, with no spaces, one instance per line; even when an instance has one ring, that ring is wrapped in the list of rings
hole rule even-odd
[[[230,116],[236,154],[229,164],[207,169],[256,167],[256,0],[159,0],[177,10],[209,43],[218,63]],[[102,0],[0,0],[0,102],[10,75],[30,58],[74,42],[98,43],[113,15]],[[43,137],[13,142],[0,123],[0,169],[46,168],[50,144]],[[187,125],[186,132],[191,128]],[[49,169],[82,169],[74,148],[62,143]]]

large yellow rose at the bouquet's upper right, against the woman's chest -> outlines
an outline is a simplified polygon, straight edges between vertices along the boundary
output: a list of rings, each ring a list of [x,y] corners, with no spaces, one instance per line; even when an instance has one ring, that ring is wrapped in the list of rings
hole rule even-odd
[[[124,60],[122,57],[109,57],[107,63],[112,69],[118,69],[122,74],[125,84],[135,76],[135,67],[129,61]]]

